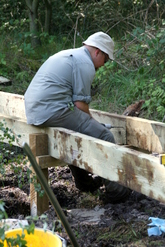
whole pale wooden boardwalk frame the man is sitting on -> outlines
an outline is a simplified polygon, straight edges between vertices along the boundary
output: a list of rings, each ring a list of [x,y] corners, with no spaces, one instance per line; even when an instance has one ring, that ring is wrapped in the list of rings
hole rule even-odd
[[[64,128],[27,125],[23,96],[0,92],[0,120],[21,135],[19,145],[30,145],[46,177],[48,167],[73,164],[165,203],[165,167],[159,157],[165,153],[165,124],[97,110],[91,113],[99,122],[122,127],[112,129],[117,144]],[[31,208],[37,207],[40,214],[48,202],[45,198],[41,203],[32,187]]]

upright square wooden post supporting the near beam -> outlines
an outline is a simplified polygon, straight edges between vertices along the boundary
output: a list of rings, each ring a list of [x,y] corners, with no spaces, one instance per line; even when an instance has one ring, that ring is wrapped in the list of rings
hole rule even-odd
[[[48,155],[48,135],[44,133],[29,134],[29,146],[36,159],[37,156]],[[48,168],[42,169],[42,172],[48,181]],[[41,215],[49,209],[47,195],[44,193],[42,197],[39,196],[33,184],[30,184],[30,209],[31,216]]]

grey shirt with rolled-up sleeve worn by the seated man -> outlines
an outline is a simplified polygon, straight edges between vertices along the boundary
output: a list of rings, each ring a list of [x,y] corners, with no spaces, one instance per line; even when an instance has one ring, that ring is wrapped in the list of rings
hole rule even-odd
[[[84,46],[48,58],[24,95],[27,123],[40,125],[71,102],[89,104],[94,76],[94,64]]]

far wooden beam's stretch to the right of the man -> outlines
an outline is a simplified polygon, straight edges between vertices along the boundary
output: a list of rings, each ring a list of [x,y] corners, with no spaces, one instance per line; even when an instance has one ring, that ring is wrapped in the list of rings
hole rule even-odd
[[[126,140],[120,139],[123,144],[138,147],[150,152],[165,153],[165,123],[99,112],[96,110],[91,110],[91,113],[99,122],[109,122],[112,125],[123,126],[126,131]],[[115,132],[113,133],[115,135]],[[119,139],[117,140],[117,144],[120,144]]]

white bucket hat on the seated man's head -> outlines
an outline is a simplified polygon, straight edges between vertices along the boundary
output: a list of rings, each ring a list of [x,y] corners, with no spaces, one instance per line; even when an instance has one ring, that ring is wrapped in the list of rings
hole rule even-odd
[[[85,45],[90,45],[96,48],[99,48],[101,51],[108,54],[109,59],[113,58],[113,51],[114,51],[114,42],[111,37],[103,32],[97,32],[92,34],[83,42]]]

